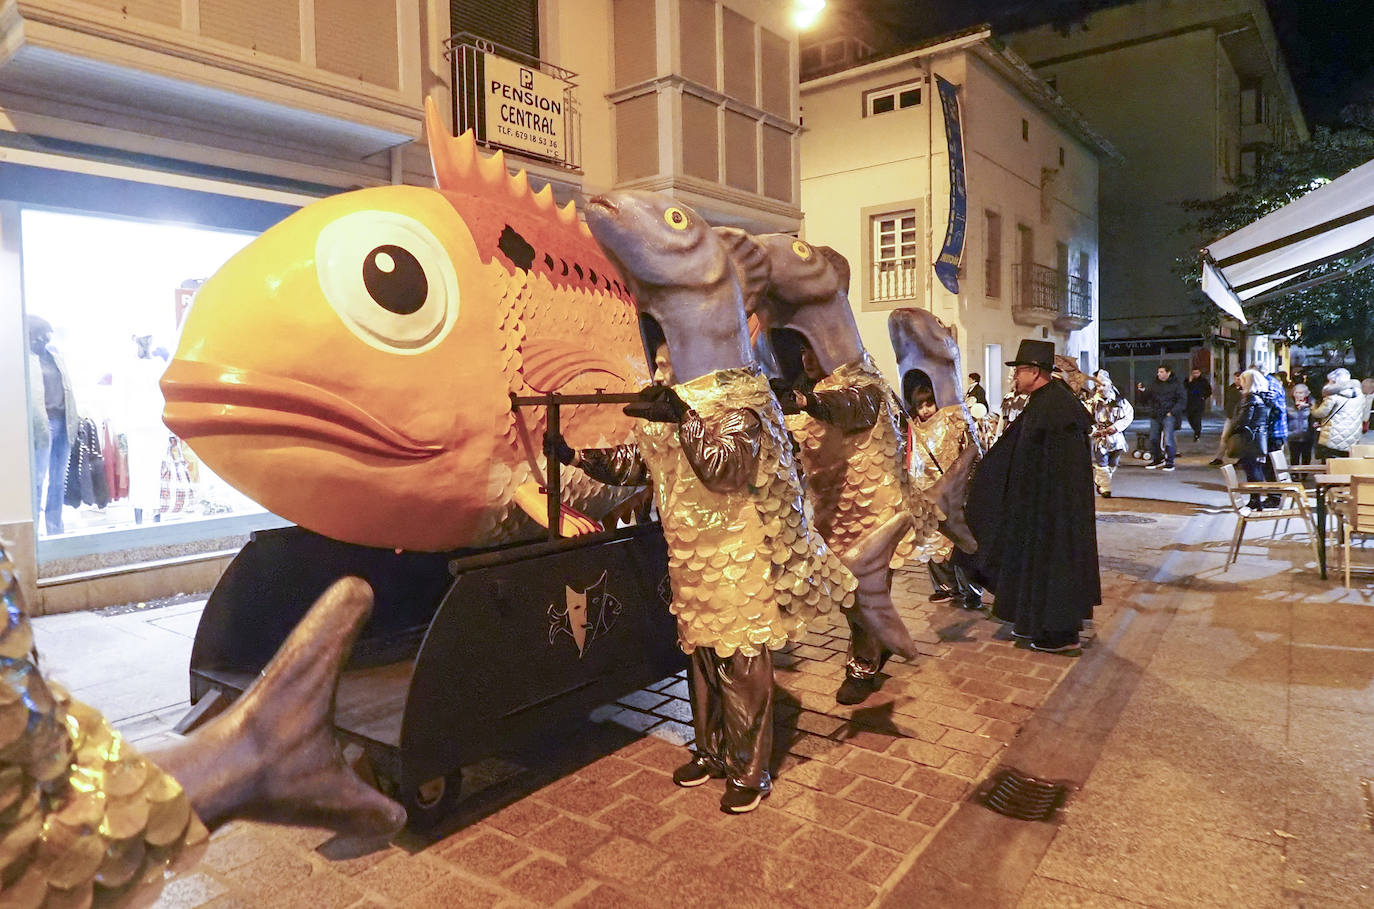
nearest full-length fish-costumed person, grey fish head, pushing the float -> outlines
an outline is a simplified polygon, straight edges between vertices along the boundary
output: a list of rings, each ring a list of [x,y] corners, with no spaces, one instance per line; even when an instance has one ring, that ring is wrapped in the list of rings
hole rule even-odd
[[[727,777],[721,809],[749,812],[772,790],[771,651],[851,608],[857,582],[807,520],[782,409],[749,345],[742,272],[724,244],[665,195],[598,196],[587,221],[633,290],[666,384],[627,408],[646,417],[636,445],[551,442],[603,482],[651,479],[697,730],[673,780]]]

